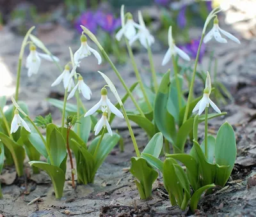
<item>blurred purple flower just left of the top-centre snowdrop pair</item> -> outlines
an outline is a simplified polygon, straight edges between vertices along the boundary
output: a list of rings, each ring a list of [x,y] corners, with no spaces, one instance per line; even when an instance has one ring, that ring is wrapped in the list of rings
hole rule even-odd
[[[102,13],[99,11],[95,14],[95,19],[99,26],[109,34],[121,26],[121,19],[116,19],[112,13]]]

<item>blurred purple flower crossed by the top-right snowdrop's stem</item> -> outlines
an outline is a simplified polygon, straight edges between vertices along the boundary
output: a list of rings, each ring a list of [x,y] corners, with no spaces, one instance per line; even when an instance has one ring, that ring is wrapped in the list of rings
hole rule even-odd
[[[199,43],[200,43],[200,40],[191,40],[190,43],[186,43],[182,46],[179,46],[179,48],[184,50],[184,52],[186,52],[193,59],[196,59]],[[202,58],[204,57],[204,54],[205,54],[205,44],[202,43],[199,58],[198,58],[199,63],[202,62]]]

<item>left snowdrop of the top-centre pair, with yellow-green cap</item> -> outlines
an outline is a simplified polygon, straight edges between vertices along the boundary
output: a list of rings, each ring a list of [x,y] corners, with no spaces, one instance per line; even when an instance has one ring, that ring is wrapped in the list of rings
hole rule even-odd
[[[121,29],[116,33],[116,40],[120,41],[124,35],[131,40],[136,35],[136,28],[140,29],[140,25],[136,24],[132,19],[131,13],[127,13],[127,21],[125,23],[124,4],[121,6]]]

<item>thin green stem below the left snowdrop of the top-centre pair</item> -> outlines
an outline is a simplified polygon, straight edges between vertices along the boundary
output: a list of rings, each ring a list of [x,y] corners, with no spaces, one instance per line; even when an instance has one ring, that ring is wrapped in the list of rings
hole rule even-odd
[[[132,52],[132,48],[131,46],[129,45],[129,42],[127,39],[125,39],[126,41],[126,46],[127,46],[127,49],[128,49],[128,52],[129,52],[129,56],[131,58],[131,61],[132,61],[132,67],[134,69],[134,72],[135,72],[135,75],[136,75],[136,78],[140,84],[140,89],[142,91],[142,94],[143,94],[143,98],[145,99],[146,103],[147,103],[147,106],[148,106],[148,109],[149,110],[152,110],[152,105],[150,104],[150,101],[148,100],[148,96],[147,96],[147,93],[145,91],[145,87],[143,86],[143,83],[141,81],[141,77],[140,77],[140,73],[139,73],[139,70],[138,70],[138,67],[135,63],[135,59],[134,59],[134,55],[133,55],[133,52]]]

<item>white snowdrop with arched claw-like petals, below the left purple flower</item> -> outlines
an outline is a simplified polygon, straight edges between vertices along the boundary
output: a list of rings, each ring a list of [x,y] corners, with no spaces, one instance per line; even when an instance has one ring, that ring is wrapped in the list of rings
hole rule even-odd
[[[97,50],[92,49],[92,47],[90,47],[88,45],[87,37],[84,34],[82,34],[80,40],[81,40],[81,46],[79,47],[79,49],[74,54],[75,64],[77,64],[77,66],[80,66],[80,64],[78,62],[79,59],[83,59],[84,57],[88,57],[92,53],[96,57],[96,59],[98,60],[98,64],[100,64],[101,61],[102,61],[101,56],[100,56],[99,52],[97,52]]]

